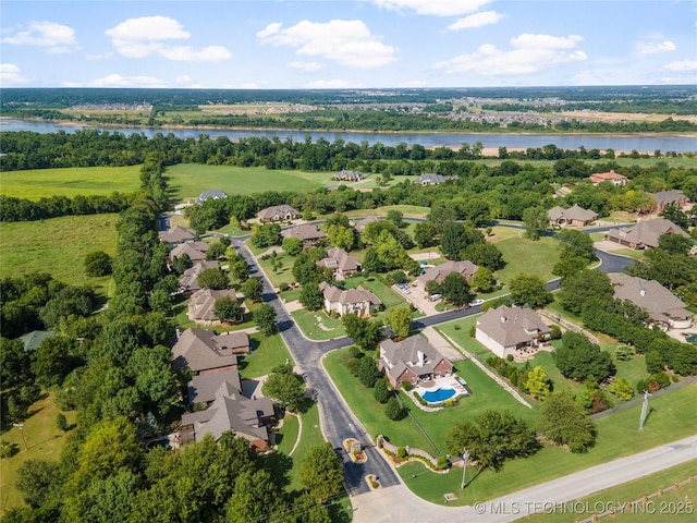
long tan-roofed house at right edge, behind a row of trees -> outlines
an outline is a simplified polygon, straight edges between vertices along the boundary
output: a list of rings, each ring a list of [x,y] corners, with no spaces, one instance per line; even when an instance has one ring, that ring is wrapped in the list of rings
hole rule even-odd
[[[686,329],[693,325],[693,313],[675,294],[656,280],[628,275],[610,275],[614,297],[628,300],[649,315],[651,324],[663,330]]]

